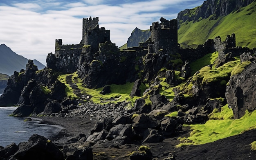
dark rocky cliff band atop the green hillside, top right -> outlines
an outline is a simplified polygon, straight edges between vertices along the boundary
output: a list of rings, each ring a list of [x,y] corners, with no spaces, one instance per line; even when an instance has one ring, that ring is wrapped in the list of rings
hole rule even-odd
[[[185,9],[181,11],[177,20],[180,23],[198,21],[199,19],[210,18],[216,20],[218,17],[226,16],[233,11],[239,10],[254,2],[254,0],[206,0],[204,3],[194,9]]]

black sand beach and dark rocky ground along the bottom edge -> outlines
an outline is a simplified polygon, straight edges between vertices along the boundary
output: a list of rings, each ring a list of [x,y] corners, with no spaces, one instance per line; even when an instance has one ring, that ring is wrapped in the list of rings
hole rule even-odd
[[[187,136],[189,127],[162,142],[120,145],[106,140],[86,142],[95,123],[90,116],[42,119],[44,123],[61,125],[65,129],[51,140],[34,134],[28,142],[1,147],[0,160],[254,160],[256,157],[249,145],[255,140],[256,129],[204,145],[177,148],[178,137]]]

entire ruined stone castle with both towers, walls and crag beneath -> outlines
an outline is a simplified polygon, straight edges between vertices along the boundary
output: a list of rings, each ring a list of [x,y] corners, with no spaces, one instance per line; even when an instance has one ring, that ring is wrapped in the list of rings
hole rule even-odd
[[[123,84],[143,79],[149,83],[161,68],[181,70],[185,61],[195,61],[208,53],[219,52],[219,58],[232,52],[232,57],[251,52],[236,47],[236,36],[228,35],[208,39],[196,49],[180,48],[177,37],[177,20],[160,19],[150,26],[151,36],[139,47],[119,50],[110,42],[110,30],[99,28],[99,18],[83,18],[80,44],[63,45],[56,39],[55,54],[47,56],[47,67],[63,73],[78,71],[79,78],[89,88],[112,83]]]

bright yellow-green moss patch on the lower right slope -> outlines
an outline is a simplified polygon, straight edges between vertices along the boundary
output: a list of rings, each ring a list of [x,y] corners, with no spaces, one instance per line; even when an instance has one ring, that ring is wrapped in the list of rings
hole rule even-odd
[[[205,124],[189,125],[191,127],[191,134],[187,138],[181,139],[181,142],[176,147],[184,145],[201,145],[230,136],[242,134],[243,132],[255,129],[256,111],[249,113],[246,111],[245,115],[240,119],[233,119],[232,110],[225,105],[221,111],[214,111],[209,121]]]

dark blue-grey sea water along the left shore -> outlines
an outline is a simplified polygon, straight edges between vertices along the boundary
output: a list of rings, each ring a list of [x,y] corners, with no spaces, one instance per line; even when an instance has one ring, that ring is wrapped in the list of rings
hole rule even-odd
[[[25,118],[8,116],[17,107],[0,107],[0,146],[6,147],[11,143],[26,142],[33,134],[46,138],[56,136],[62,129],[61,126],[41,123],[39,118],[25,122]]]

